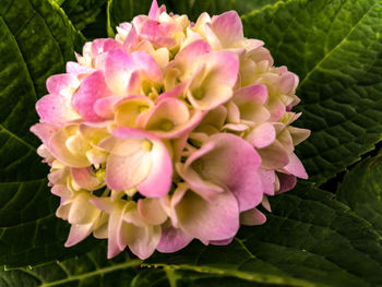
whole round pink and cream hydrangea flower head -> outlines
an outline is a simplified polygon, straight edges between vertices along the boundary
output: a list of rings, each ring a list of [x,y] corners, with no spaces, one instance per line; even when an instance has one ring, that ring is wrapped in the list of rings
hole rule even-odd
[[[294,150],[309,131],[290,125],[298,77],[235,11],[192,23],[154,0],[117,31],[86,43],[36,104],[65,246],[93,234],[108,258],[146,259],[263,224],[256,206],[308,177]]]

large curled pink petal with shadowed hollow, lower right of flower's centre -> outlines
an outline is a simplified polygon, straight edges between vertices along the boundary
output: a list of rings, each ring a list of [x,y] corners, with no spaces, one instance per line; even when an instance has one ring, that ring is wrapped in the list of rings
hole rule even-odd
[[[240,211],[246,211],[256,206],[263,196],[258,174],[260,164],[260,156],[244,140],[218,133],[189,156],[184,164],[184,180],[192,187],[188,175],[194,170],[202,178],[224,184],[237,198]]]

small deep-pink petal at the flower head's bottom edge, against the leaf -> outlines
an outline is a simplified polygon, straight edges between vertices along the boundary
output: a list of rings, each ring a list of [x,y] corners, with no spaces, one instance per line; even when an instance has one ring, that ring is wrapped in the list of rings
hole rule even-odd
[[[192,237],[179,228],[169,227],[162,230],[162,237],[156,250],[163,253],[172,253],[187,247]]]

